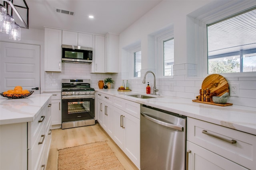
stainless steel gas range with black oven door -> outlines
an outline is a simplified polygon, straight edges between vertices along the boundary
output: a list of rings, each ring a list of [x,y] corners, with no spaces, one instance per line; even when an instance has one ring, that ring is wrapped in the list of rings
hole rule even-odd
[[[90,79],[62,79],[62,129],[95,125],[94,92]]]

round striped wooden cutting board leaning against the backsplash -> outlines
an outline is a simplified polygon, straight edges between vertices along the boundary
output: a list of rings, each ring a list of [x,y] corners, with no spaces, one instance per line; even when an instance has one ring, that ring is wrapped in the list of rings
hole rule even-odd
[[[222,94],[229,92],[229,86],[227,80],[220,74],[211,74],[207,76],[202,82],[202,89],[210,89],[210,100],[212,96],[221,96]]]

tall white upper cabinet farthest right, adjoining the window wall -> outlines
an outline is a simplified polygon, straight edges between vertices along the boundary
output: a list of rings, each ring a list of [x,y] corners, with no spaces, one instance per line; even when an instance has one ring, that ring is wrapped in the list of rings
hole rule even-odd
[[[118,72],[119,68],[119,35],[105,35],[105,72]]]

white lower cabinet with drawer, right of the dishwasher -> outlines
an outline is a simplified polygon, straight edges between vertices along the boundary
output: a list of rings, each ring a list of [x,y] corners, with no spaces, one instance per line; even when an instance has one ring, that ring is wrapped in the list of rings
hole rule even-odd
[[[188,170],[256,167],[256,136],[188,117]]]

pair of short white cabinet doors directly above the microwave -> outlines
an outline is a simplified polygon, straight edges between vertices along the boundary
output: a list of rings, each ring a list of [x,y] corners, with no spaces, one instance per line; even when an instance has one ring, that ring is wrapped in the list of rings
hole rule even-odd
[[[62,44],[92,48],[92,34],[63,30]]]

